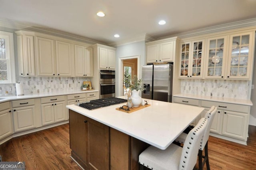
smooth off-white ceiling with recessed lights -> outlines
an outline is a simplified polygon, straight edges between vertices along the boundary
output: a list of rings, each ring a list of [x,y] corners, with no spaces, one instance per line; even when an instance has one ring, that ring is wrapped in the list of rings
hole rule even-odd
[[[0,0],[7,20],[104,43],[154,38],[256,18],[256,0]],[[106,16],[96,16],[103,11]],[[166,20],[165,25],[158,25]],[[114,34],[119,34],[115,38]]]

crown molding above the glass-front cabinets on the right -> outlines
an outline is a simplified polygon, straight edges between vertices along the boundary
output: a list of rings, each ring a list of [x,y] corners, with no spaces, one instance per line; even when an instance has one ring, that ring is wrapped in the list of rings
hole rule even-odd
[[[159,37],[157,40],[161,40],[164,38],[170,38],[174,36],[178,36],[179,38],[188,38],[192,36],[200,36],[204,34],[212,34],[216,32],[222,32],[222,31],[228,31],[228,30],[233,30],[233,29],[239,29],[239,28],[246,28],[246,27],[255,27],[256,26],[256,18],[248,19],[248,20],[242,20],[242,21],[237,21],[237,22],[230,22],[227,24],[220,24],[217,26],[210,26],[198,30],[193,30],[193,31],[188,31],[188,32],[183,32],[180,34],[173,34],[170,36],[164,36],[164,37]]]

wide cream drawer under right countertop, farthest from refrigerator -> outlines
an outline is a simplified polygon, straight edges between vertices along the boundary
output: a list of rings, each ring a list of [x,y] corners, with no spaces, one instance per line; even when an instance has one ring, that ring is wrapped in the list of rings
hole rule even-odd
[[[223,103],[223,102],[212,102],[212,101],[205,101],[205,100],[202,100],[201,106],[204,108],[217,106],[217,108],[220,110],[230,110],[234,112],[243,112],[243,113],[248,113],[250,111],[250,106],[246,106],[246,105],[230,104],[230,103]]]

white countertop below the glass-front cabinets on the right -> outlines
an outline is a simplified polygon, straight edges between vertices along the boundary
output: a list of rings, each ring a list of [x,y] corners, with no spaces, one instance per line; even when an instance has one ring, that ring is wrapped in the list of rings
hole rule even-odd
[[[232,103],[232,104],[242,104],[252,106],[252,101],[248,99],[238,99],[238,98],[224,98],[224,97],[216,97],[216,96],[200,96],[196,94],[175,94],[174,97],[182,97],[182,98],[192,98],[198,100],[209,100],[214,102],[223,102],[223,103]]]

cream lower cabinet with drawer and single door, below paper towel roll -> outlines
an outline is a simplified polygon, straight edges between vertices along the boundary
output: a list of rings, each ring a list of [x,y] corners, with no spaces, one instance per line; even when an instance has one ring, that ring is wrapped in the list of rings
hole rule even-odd
[[[36,128],[35,100],[12,101],[14,132]]]

